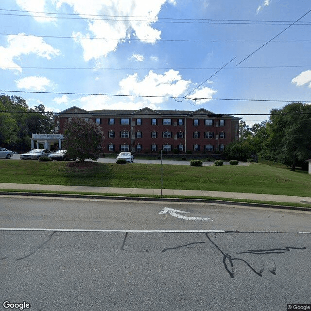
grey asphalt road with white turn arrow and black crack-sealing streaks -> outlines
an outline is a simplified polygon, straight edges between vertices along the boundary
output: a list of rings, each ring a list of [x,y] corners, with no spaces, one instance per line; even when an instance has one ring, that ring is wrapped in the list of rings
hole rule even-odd
[[[2,228],[46,229],[0,230],[1,304],[285,311],[311,303],[311,239],[298,233],[310,221],[308,212],[262,208],[1,197]]]

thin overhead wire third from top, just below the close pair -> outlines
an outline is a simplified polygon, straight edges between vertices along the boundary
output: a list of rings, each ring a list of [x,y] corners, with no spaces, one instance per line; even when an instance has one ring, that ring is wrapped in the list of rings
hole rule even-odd
[[[141,41],[138,38],[104,38],[104,37],[73,37],[73,36],[59,36],[59,35],[27,35],[0,33],[0,35],[15,35],[15,36],[32,36],[42,38],[60,38],[60,39],[87,39],[87,40],[116,40],[116,41]],[[164,41],[164,42],[267,42],[267,40],[189,40],[189,39],[143,39],[144,41]],[[273,42],[311,42],[311,40],[275,40]]]

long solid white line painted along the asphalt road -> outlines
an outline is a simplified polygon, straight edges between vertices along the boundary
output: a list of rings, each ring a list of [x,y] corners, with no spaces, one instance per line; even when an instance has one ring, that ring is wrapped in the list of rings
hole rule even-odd
[[[282,232],[282,231],[238,231],[238,230],[123,230],[123,229],[53,229],[53,228],[0,228],[0,231],[63,231],[63,232],[167,232],[167,233],[299,233],[311,234],[311,232]]]

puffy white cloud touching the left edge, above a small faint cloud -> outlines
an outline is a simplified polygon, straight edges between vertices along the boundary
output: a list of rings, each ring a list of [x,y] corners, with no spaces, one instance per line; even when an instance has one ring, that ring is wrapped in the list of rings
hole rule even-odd
[[[15,58],[21,55],[36,54],[39,57],[51,59],[54,56],[60,55],[60,51],[54,49],[51,45],[44,42],[41,37],[34,36],[8,35],[8,47],[0,47],[0,68],[1,69],[15,69],[21,71],[20,66],[15,62]],[[17,67],[17,68],[7,68]]]

